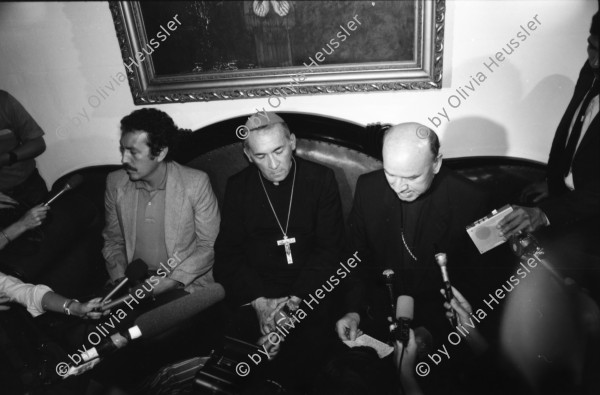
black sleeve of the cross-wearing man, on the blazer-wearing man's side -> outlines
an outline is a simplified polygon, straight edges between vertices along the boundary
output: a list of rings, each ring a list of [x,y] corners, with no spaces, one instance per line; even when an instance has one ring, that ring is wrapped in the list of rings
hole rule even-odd
[[[243,190],[240,179],[227,182],[221,216],[221,229],[215,242],[215,281],[225,288],[225,295],[234,306],[264,296],[263,282],[248,265],[244,251],[246,233],[243,224]]]

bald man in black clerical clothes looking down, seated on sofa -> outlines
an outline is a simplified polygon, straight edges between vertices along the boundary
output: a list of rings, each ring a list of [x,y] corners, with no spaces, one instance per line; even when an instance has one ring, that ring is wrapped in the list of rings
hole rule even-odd
[[[414,326],[423,325],[437,341],[452,329],[440,297],[435,254],[445,252],[453,284],[473,298],[478,253],[465,226],[487,212],[486,194],[442,166],[437,135],[418,123],[391,127],[383,141],[383,169],[362,175],[350,212],[349,248],[362,262],[336,324],[342,340],[365,332],[386,339],[390,313],[382,272],[392,269],[396,295],[414,297]],[[475,300],[475,299],[472,299]],[[436,336],[437,335],[437,336]]]

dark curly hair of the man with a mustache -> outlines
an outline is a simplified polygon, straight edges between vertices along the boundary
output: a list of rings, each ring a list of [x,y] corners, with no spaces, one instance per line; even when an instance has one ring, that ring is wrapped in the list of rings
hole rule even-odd
[[[121,119],[121,136],[133,132],[146,132],[150,155],[156,157],[164,148],[169,148],[165,160],[171,160],[182,134],[190,132],[180,129],[164,111],[141,108]]]

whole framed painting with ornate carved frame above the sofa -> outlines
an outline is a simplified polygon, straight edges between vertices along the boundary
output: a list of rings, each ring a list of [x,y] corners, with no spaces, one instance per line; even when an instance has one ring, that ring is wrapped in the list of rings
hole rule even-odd
[[[312,3],[109,2],[134,103],[441,88],[444,0]]]

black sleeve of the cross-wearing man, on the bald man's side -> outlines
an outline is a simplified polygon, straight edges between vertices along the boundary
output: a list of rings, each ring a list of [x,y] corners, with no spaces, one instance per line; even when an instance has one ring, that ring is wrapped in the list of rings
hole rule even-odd
[[[315,233],[314,248],[290,290],[291,295],[300,298],[314,292],[340,258],[344,222],[340,192],[331,169],[325,172],[319,194]]]

